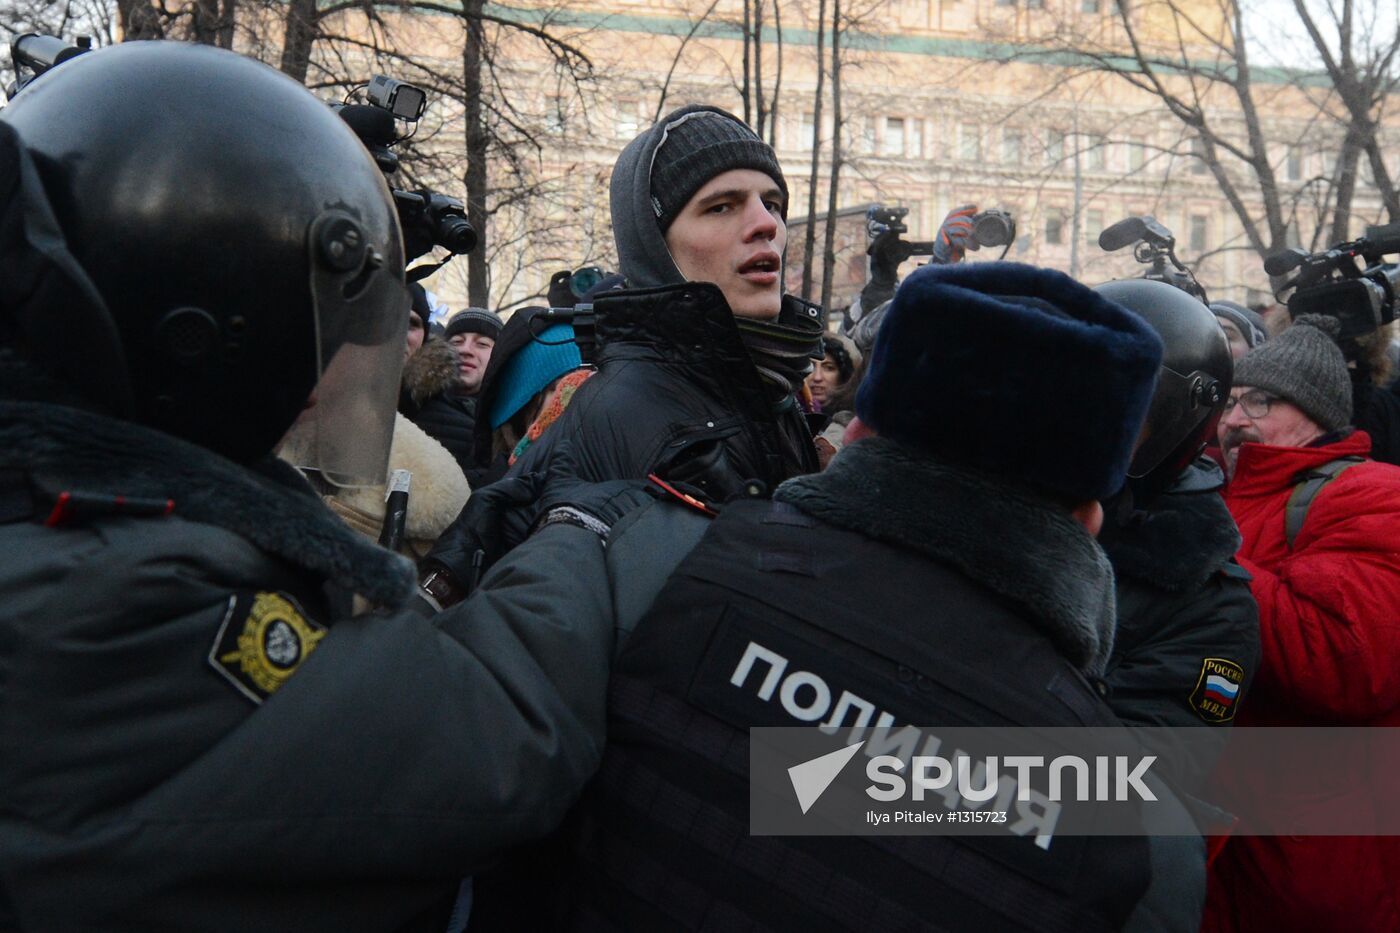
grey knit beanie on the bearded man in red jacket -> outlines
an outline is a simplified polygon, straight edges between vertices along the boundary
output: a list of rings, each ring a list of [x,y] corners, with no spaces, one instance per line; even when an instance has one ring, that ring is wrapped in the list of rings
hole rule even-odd
[[[1305,314],[1281,335],[1235,364],[1235,385],[1273,392],[1292,402],[1324,431],[1351,423],[1351,377],[1337,346],[1341,324]]]

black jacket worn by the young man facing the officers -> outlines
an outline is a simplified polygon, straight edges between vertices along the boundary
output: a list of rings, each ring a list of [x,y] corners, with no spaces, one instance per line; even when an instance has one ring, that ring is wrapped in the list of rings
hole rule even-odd
[[[539,469],[568,440],[585,481],[658,474],[715,502],[816,472],[801,409],[763,384],[718,287],[609,291],[594,312],[596,375],[514,469]],[[784,298],[783,315],[808,312]]]

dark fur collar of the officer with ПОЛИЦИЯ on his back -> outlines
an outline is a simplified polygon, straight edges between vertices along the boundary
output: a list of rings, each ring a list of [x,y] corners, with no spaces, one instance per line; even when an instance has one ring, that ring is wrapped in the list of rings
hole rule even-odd
[[[847,445],[826,472],[773,496],[839,528],[937,560],[1022,605],[1072,664],[1102,675],[1113,651],[1113,567],[1065,510],[1030,489],[897,441]]]

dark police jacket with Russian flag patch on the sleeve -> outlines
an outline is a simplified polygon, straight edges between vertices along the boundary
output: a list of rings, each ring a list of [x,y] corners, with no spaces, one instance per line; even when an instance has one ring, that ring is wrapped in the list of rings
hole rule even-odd
[[[1105,503],[1099,534],[1119,605],[1105,672],[1109,706],[1128,726],[1190,730],[1154,730],[1149,741],[1197,825],[1221,829],[1228,815],[1196,794],[1225,749],[1260,653],[1259,608],[1249,573],[1235,562],[1240,537],[1219,497],[1222,483],[1219,468],[1198,459],[1145,502],[1134,504],[1124,489]],[[1205,696],[1208,674],[1236,682],[1228,707]],[[1152,848],[1152,887],[1127,929],[1194,930],[1205,906],[1204,839],[1163,835]]]

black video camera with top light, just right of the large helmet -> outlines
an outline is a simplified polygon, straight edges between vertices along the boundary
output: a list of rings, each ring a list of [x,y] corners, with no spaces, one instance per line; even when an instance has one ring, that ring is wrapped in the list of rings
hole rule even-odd
[[[409,280],[417,282],[441,269],[452,256],[472,252],[476,248],[476,230],[468,223],[466,209],[456,198],[426,188],[406,191],[392,184],[393,174],[399,170],[399,156],[392,147],[407,139],[398,133],[396,120],[416,123],[423,116],[427,108],[423,88],[384,74],[370,78],[365,88],[368,104],[330,106],[370,150],[385,178],[391,179],[389,193],[393,195],[393,206],[399,210],[399,224],[403,227],[405,258],[417,259],[431,252],[433,247],[442,247],[451,254],[442,262],[409,269]]]

